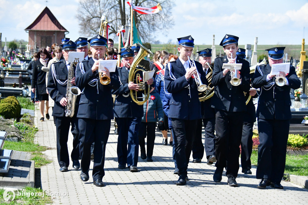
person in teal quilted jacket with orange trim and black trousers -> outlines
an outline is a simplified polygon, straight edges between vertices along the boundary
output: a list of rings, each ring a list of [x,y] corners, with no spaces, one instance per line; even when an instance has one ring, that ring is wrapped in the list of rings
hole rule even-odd
[[[142,117],[138,138],[141,152],[141,159],[147,159],[148,162],[153,162],[152,155],[155,141],[155,128],[157,119],[158,126],[162,126],[164,119],[163,105],[159,94],[151,88],[150,96],[147,102],[143,104],[144,116]],[[147,153],[145,152],[145,137],[147,138]]]

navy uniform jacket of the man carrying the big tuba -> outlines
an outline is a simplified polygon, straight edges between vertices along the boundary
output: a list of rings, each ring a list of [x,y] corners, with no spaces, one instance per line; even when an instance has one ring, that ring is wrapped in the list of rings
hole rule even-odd
[[[120,81],[123,85],[119,88],[112,89],[112,94],[116,95],[113,109],[114,116],[116,118],[143,117],[143,105],[136,104],[136,102],[134,102],[129,95],[130,90],[128,90],[128,71],[125,67],[120,67],[118,68],[118,72]],[[140,72],[140,76],[142,76],[142,72]],[[127,97],[124,97],[124,95]],[[138,91],[138,96],[142,97],[141,91]]]

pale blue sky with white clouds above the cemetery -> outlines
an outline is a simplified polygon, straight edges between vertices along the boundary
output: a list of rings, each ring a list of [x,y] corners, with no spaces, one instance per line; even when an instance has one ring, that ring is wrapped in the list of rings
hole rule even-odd
[[[7,41],[28,40],[24,29],[42,12],[46,2],[0,0],[0,5],[6,8],[0,14],[0,32],[4,42],[5,37]],[[69,30],[67,37],[77,39],[79,27],[75,15],[78,0],[53,0],[48,1],[47,6]],[[157,32],[157,39],[161,42],[169,39],[176,42],[176,38],[192,35],[195,44],[212,44],[215,34],[215,44],[218,45],[225,34],[232,34],[240,38],[241,45],[253,44],[255,37],[258,37],[260,45],[298,45],[303,37],[308,37],[307,0],[175,0],[170,12],[175,25],[168,33]],[[308,39],[306,42],[308,44]]]

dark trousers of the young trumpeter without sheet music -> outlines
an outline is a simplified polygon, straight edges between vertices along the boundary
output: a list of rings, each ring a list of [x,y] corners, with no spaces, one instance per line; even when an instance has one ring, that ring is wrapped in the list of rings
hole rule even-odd
[[[187,175],[189,157],[197,130],[197,120],[171,118],[178,175]]]

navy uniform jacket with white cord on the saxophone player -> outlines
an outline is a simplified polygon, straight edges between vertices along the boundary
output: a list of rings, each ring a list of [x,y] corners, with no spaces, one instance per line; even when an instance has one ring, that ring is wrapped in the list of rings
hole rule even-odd
[[[55,78],[52,74],[53,66],[55,66],[55,72],[56,72]],[[74,67],[74,75],[75,75],[75,67]],[[52,116],[56,116],[56,117],[65,116],[65,107],[63,107],[60,104],[60,100],[62,98],[65,98],[67,84],[60,85],[57,82],[57,79],[61,82],[65,82],[67,80],[67,77],[68,77],[68,71],[67,71],[65,61],[55,62],[53,63],[53,65],[51,65],[49,74],[48,74],[47,90],[49,92],[51,99],[55,101],[54,109],[52,110]],[[75,85],[72,85],[72,86],[75,86]],[[79,99],[80,99],[80,95],[78,95],[76,99],[74,116],[76,116],[78,112]]]

